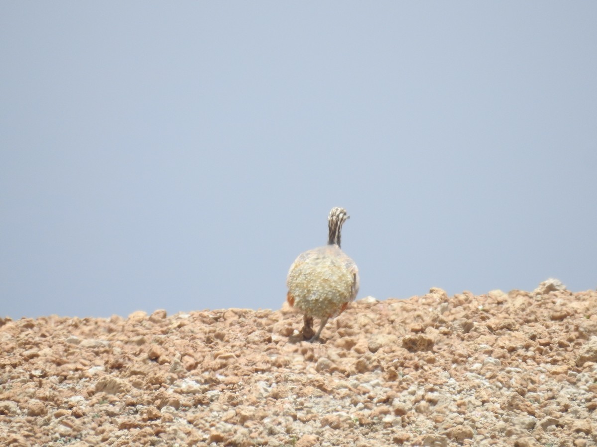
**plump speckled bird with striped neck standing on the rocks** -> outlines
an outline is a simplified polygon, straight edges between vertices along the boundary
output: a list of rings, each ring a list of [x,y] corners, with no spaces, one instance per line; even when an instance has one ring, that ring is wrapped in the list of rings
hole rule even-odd
[[[309,342],[319,339],[328,319],[344,312],[359,291],[359,269],[340,248],[342,225],[349,217],[344,208],[332,208],[327,245],[299,254],[288,270],[286,299],[303,314],[301,333]],[[321,320],[315,334],[313,318]]]

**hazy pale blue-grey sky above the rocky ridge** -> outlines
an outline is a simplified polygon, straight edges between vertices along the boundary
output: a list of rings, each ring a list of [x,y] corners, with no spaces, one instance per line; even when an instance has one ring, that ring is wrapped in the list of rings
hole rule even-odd
[[[0,5],[0,316],[597,287],[597,2]]]

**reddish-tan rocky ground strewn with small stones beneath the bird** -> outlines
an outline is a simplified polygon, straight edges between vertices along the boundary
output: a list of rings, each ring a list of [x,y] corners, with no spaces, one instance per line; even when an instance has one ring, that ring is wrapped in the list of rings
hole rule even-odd
[[[597,291],[0,319],[10,446],[594,446]]]

